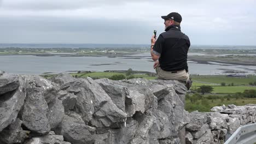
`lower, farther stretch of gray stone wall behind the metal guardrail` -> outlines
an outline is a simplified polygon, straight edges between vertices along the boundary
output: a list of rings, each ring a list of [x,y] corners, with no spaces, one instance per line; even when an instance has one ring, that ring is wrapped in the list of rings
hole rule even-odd
[[[216,106],[212,112],[189,113],[186,143],[223,143],[242,125],[255,123],[256,105]]]

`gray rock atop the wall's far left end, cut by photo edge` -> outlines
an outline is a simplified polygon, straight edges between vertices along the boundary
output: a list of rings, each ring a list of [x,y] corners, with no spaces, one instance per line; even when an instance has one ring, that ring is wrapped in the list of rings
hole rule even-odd
[[[1,94],[14,91],[20,86],[19,77],[17,75],[0,76],[0,97]]]

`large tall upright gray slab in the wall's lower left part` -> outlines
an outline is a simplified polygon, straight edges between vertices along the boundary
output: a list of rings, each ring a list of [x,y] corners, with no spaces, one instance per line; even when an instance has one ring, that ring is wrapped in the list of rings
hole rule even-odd
[[[48,105],[41,92],[37,89],[28,88],[24,107],[21,112],[23,124],[38,134],[48,134],[50,124],[46,114]]]

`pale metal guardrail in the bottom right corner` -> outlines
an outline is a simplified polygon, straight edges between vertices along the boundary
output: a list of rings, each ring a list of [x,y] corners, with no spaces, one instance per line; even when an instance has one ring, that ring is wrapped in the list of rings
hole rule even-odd
[[[254,144],[256,142],[256,123],[239,127],[224,144]]]

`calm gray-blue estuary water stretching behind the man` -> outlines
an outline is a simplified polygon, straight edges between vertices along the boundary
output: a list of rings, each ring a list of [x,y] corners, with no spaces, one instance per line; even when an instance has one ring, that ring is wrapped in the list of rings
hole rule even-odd
[[[10,74],[61,73],[78,70],[132,70],[155,72],[150,53],[125,57],[60,57],[60,56],[0,56],[0,70]],[[188,61],[189,73],[199,75],[256,74],[255,66],[222,63],[200,64]]]

